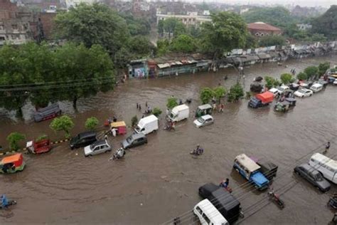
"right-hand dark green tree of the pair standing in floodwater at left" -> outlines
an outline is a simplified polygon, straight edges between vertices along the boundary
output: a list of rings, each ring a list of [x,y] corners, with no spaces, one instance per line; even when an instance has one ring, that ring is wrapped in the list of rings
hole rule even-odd
[[[69,82],[58,85],[58,100],[70,100],[76,108],[79,98],[87,98],[98,92],[114,88],[114,68],[108,54],[101,46],[90,49],[65,43],[55,49],[55,81]],[[73,80],[80,80],[74,83]]]

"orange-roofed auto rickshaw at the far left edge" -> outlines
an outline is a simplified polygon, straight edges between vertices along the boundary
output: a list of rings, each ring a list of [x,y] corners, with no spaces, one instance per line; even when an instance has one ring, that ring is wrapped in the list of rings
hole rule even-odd
[[[0,162],[0,172],[3,174],[13,174],[18,171],[22,171],[26,163],[23,162],[21,153],[4,157]]]

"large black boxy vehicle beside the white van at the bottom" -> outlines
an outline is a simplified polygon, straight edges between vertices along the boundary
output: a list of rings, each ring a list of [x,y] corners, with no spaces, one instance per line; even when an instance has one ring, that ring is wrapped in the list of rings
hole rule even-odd
[[[200,197],[208,199],[230,224],[237,221],[241,213],[240,202],[222,187],[213,183],[199,187]]]

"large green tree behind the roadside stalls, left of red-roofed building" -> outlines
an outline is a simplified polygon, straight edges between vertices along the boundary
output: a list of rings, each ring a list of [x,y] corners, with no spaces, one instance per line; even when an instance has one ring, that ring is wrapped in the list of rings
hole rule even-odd
[[[248,36],[247,25],[243,19],[231,12],[211,15],[212,22],[202,24],[200,48],[213,53],[213,58],[223,56],[225,51],[245,47]]]

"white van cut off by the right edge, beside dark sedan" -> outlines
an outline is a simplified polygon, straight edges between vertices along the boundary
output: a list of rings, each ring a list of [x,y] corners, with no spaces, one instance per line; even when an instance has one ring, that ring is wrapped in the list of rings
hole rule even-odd
[[[315,153],[309,160],[311,167],[317,169],[323,177],[337,184],[337,162],[325,155]]]

